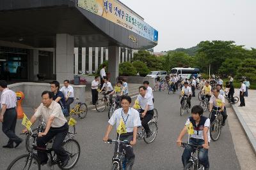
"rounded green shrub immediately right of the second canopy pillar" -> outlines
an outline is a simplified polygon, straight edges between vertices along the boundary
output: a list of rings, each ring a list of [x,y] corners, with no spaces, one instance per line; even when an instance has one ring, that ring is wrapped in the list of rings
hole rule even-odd
[[[136,68],[131,62],[123,62],[119,64],[119,76],[136,76]]]

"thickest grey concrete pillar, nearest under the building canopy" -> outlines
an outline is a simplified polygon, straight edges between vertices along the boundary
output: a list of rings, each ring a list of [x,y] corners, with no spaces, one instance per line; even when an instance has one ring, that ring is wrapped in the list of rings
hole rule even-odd
[[[74,79],[74,36],[56,34],[56,79]]]

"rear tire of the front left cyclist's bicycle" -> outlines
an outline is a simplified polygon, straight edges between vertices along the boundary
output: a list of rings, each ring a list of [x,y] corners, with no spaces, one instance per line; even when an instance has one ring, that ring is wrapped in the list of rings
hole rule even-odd
[[[67,166],[65,166],[65,167],[61,166],[61,164],[58,164],[58,167],[60,167],[60,169],[65,169],[65,170],[67,170],[67,169],[72,169],[74,166],[76,166],[77,161],[79,160],[80,153],[81,153],[81,149],[80,149],[79,143],[78,143],[75,139],[68,139],[67,141],[65,141],[65,142],[62,143],[62,146],[63,146],[63,148],[65,149],[65,151],[67,152],[67,146],[66,146],[66,148],[65,148],[65,145],[67,145],[67,144],[70,143],[70,142],[72,142],[72,152],[73,152],[73,145],[77,145],[77,150],[78,150],[78,151],[77,151],[78,153],[74,153],[74,155],[73,155],[73,153],[68,152],[68,155],[70,156],[70,160],[71,160],[72,157],[74,157],[75,155],[77,155],[77,158],[74,160],[74,162],[73,162],[70,166],[68,166],[68,165],[70,164],[70,160],[68,160],[68,164],[67,164]],[[70,154],[72,154],[72,155],[70,155]]]

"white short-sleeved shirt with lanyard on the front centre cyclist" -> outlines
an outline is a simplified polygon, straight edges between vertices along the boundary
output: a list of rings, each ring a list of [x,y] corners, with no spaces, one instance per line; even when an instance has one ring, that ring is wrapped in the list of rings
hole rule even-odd
[[[140,113],[137,110],[134,110],[134,108],[129,108],[127,114],[124,113],[123,108],[115,110],[108,123],[112,126],[116,124],[117,129],[121,119],[123,119],[125,123],[127,132],[133,132],[134,127],[141,126]]]

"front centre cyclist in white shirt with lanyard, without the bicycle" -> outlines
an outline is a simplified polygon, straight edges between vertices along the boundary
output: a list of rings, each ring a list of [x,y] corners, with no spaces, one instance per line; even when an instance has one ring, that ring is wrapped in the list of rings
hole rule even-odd
[[[141,126],[141,121],[140,121],[140,114],[138,113],[138,111],[134,110],[134,108],[130,108],[131,101],[132,99],[129,96],[121,97],[122,108],[115,110],[112,117],[109,119],[108,121],[109,125],[107,128],[106,134],[103,138],[103,141],[108,141],[109,134],[113,128],[113,125],[116,124],[116,129],[118,129],[120,120],[123,120],[127,133],[120,134],[120,140],[122,141],[127,140],[131,145],[136,144],[137,131],[138,131],[138,127]],[[118,136],[119,134],[117,134],[116,139],[118,139]],[[134,164],[134,158],[135,158],[132,147],[124,147],[124,146],[121,146],[121,147],[122,148],[120,148],[120,150],[123,150],[123,149],[125,150],[126,157],[128,159],[126,169],[131,170],[132,165]],[[115,155],[116,155],[116,152],[117,152],[117,145],[115,146]]]

